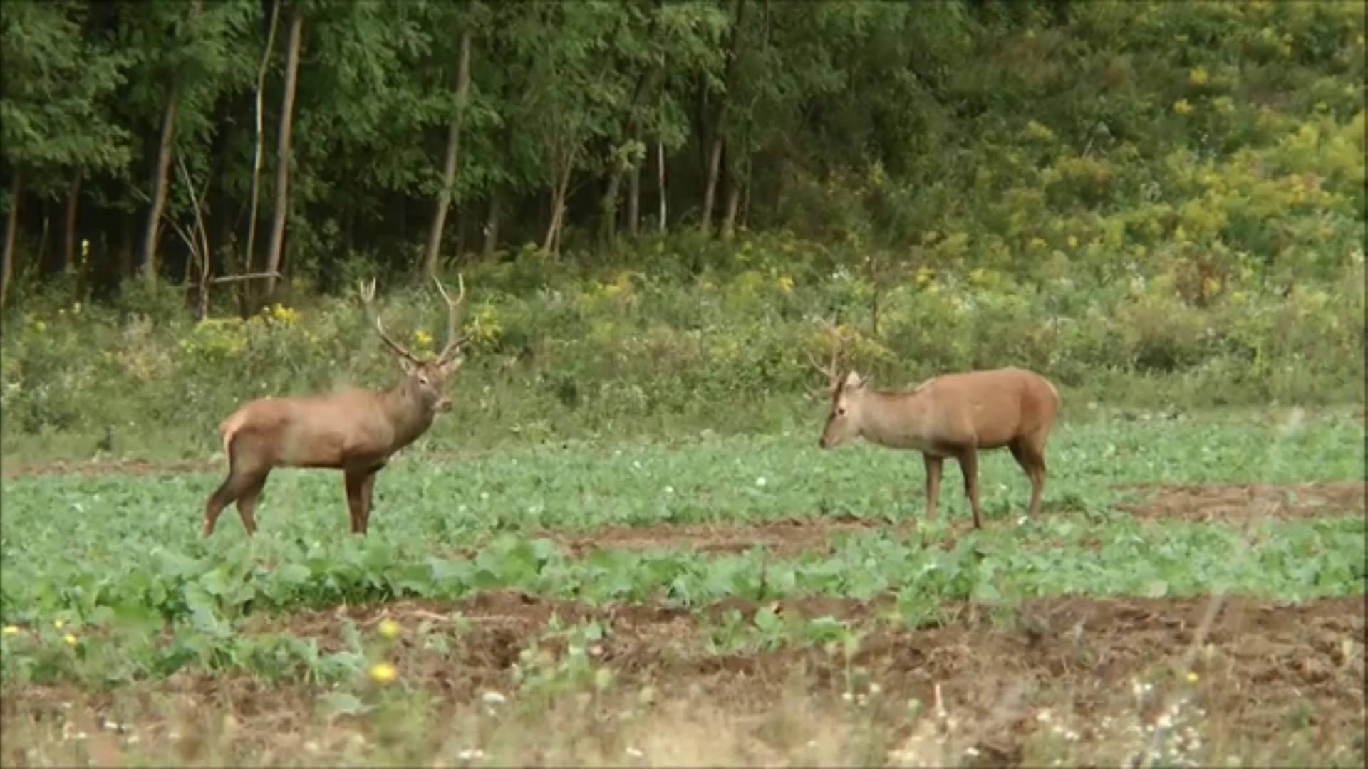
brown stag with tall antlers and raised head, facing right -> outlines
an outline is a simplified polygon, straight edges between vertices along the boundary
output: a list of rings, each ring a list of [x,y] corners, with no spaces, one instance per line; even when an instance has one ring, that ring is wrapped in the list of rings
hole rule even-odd
[[[389,390],[338,390],[320,395],[259,398],[228,415],[219,424],[228,478],[204,505],[204,536],[230,502],[248,536],[256,532],[257,497],[272,468],[335,468],[346,482],[352,534],[365,534],[371,519],[371,491],[375,473],[390,456],[417,439],[438,412],[451,408],[446,380],[465,357],[458,353],[466,335],[457,334],[457,313],[465,301],[465,281],[457,275],[456,300],[434,276],[447,305],[446,346],[430,360],[420,360],[384,333],[375,311],[375,279],[360,285],[361,304],[375,320],[380,341],[395,353],[404,378]]]

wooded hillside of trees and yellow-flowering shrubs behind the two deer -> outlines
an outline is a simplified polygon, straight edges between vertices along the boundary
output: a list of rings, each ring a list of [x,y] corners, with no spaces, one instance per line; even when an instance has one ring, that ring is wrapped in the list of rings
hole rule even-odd
[[[146,8],[0,10],[7,462],[382,384],[356,281],[434,348],[430,270],[438,443],[806,426],[828,320],[1066,419],[1364,398],[1363,3]]]

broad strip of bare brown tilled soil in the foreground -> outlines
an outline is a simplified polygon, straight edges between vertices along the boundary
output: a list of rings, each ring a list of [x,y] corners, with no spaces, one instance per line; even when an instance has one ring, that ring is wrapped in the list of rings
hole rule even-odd
[[[431,691],[439,702],[468,703],[488,690],[514,688],[513,665],[528,666],[520,654],[544,634],[553,614],[562,627],[592,618],[607,632],[591,654],[614,670],[621,691],[651,687],[661,701],[724,703],[740,718],[773,712],[793,696],[839,702],[854,672],[862,681],[858,691],[877,683],[889,703],[915,696],[929,707],[938,688],[945,712],[971,732],[973,743],[1005,764],[1021,761],[1025,740],[1044,728],[1047,709],[1056,722],[1079,729],[1083,740],[1103,739],[1099,724],[1137,716],[1153,722],[1168,705],[1166,696],[1179,692],[1235,740],[1267,740],[1294,724],[1327,740],[1363,733],[1363,597],[1302,605],[1233,597],[1201,638],[1198,628],[1212,606],[1208,598],[1048,598],[1027,601],[1008,616],[963,605],[945,624],[923,629],[881,621],[885,606],[832,598],[778,605],[781,614],[851,621],[865,635],[850,665],[839,650],[815,644],[710,654],[700,620],[668,606],[591,608],[506,591],[456,603],[342,606],[263,618],[253,631],[289,631],[317,639],[324,650],[341,650],[343,618],[360,625],[367,646],[380,643],[373,628],[391,618],[404,634],[386,655],[405,684]],[[758,609],[735,601],[703,614],[717,618],[729,608],[747,617]],[[456,613],[460,618],[453,621]],[[447,638],[449,651],[430,647],[425,634]],[[554,660],[564,642],[543,638],[539,649]],[[1185,675],[1189,653],[1196,679]],[[1157,696],[1137,705],[1137,680],[1153,681]],[[155,691],[231,705],[246,722],[297,718],[287,713],[308,702],[298,686],[239,676],[176,676]],[[57,714],[56,701],[73,696],[100,712],[118,695],[7,687],[0,701],[10,718],[34,709]],[[1090,736],[1089,729],[1097,733]]]

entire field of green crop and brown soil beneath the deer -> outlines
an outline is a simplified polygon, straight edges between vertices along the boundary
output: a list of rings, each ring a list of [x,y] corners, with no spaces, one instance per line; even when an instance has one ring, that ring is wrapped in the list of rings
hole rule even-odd
[[[1356,410],[1066,420],[1036,520],[807,432],[278,471],[14,465],[7,765],[1364,759]],[[1257,480],[1254,480],[1257,479]]]

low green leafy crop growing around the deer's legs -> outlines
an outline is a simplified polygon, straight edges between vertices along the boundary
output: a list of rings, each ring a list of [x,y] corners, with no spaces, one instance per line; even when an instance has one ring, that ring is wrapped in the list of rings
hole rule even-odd
[[[544,535],[665,521],[746,524],[804,510],[873,520],[921,516],[919,476],[907,472],[907,454],[866,447],[818,456],[803,435],[503,450],[451,465],[399,460],[376,487],[376,525],[364,540],[342,534],[334,473],[276,473],[259,509],[259,536],[246,540],[228,520],[209,542],[197,538],[197,514],[215,475],[10,479],[0,519],[7,577],[0,621],[22,632],[4,636],[0,666],[7,680],[74,676],[100,686],[186,666],[345,680],[367,662],[360,640],[324,653],[289,636],[244,635],[244,624],[263,612],[456,599],[495,588],[681,606],[893,594],[895,618],[911,625],[930,621],[947,601],[1215,590],[1305,599],[1364,588],[1364,520],[1335,517],[1352,510],[1291,521],[1182,523],[1146,521],[1115,508],[1137,501],[1137,493],[1116,484],[1153,478],[1361,478],[1363,424],[1352,419],[1064,426],[1051,443],[1052,467],[1060,471],[1047,491],[1047,514],[1016,520],[1025,480],[1005,453],[985,454],[981,484],[990,523],[952,539],[947,516],[963,519],[967,510],[962,497],[949,495],[936,521],[900,534],[851,532],[825,553],[596,547],[576,556]],[[458,546],[475,551],[453,553]],[[153,627],[164,632],[148,632]],[[527,692],[599,681],[588,651],[602,638],[595,632],[605,629],[569,627],[529,647]],[[841,646],[852,632],[829,620],[762,612],[748,621],[722,616],[707,635],[722,653]]]

